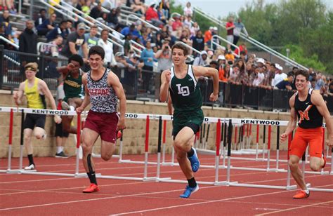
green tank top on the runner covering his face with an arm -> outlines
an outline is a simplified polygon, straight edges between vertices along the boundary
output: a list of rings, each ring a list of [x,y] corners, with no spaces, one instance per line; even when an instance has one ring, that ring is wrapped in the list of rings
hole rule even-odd
[[[79,77],[75,79],[71,74],[68,74],[64,81],[64,91],[65,98],[67,101],[68,98],[72,97],[81,97],[82,96],[82,75],[79,74]]]

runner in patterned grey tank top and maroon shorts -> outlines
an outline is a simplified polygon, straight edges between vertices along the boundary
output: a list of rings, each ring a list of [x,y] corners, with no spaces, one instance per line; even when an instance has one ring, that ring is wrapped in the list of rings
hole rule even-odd
[[[108,161],[115,151],[117,130],[126,128],[124,89],[118,76],[110,69],[103,67],[104,55],[105,52],[100,46],[92,46],[89,49],[91,71],[82,77],[85,97],[81,107],[77,108],[77,112],[81,113],[91,103],[82,133],[83,163],[91,182],[91,185],[84,189],[84,193],[99,191],[95,166],[91,158],[93,144],[98,136],[102,140],[100,156]],[[118,99],[120,116],[117,114]]]

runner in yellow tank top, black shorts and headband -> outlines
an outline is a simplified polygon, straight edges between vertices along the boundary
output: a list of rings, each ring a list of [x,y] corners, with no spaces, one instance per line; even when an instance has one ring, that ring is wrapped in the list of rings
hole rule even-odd
[[[14,94],[15,104],[20,105],[22,103],[22,97],[27,97],[27,107],[32,109],[46,109],[45,97],[48,98],[51,103],[52,109],[57,109],[55,106],[55,100],[48,89],[46,83],[36,77],[38,71],[38,65],[36,62],[30,62],[25,65],[26,80],[20,83],[18,91]],[[25,167],[25,170],[34,170],[34,159],[32,157],[32,132],[37,139],[46,138],[45,115],[40,114],[27,114],[25,116],[24,123],[24,143],[27,150],[27,156],[29,158],[29,166]],[[55,115],[54,121],[56,123],[61,122],[60,116]]]

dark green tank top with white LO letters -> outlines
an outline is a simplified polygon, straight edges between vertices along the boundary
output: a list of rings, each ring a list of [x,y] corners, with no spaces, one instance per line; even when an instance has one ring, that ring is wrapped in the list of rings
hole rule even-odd
[[[200,84],[197,83],[195,75],[192,72],[192,65],[188,65],[188,73],[183,79],[178,79],[171,67],[171,81],[169,83],[169,91],[174,106],[174,113],[193,112],[201,110],[202,95]]]

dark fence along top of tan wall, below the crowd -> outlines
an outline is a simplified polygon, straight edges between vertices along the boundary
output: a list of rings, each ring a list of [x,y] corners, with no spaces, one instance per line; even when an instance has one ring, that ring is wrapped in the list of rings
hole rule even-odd
[[[41,53],[43,54],[43,53]],[[4,58],[4,56],[8,58]],[[15,64],[12,60],[15,60]],[[44,79],[49,88],[56,90],[59,73],[56,67],[67,65],[67,60],[53,58],[50,55],[33,55],[20,53],[13,50],[4,50],[0,46],[0,89],[18,88],[20,82],[25,80],[22,62],[38,62],[39,72],[37,76]],[[21,64],[20,64],[21,63]],[[159,73],[143,69],[127,69],[113,67],[112,71],[119,76],[124,86],[126,97],[129,100],[156,100],[156,88],[159,88]],[[210,102],[209,95],[213,90],[211,79],[200,79],[200,88],[203,95],[203,103],[208,106],[219,107],[246,107],[259,110],[283,110],[289,109],[288,100],[294,92],[288,90],[265,89],[250,86],[233,85],[220,82],[218,101]],[[324,96],[329,112],[333,113],[333,97]]]

